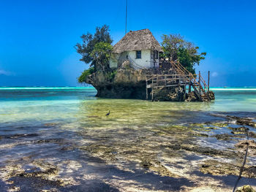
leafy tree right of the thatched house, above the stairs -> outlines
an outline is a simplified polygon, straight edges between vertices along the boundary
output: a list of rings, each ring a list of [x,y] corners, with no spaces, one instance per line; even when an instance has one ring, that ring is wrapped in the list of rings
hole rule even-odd
[[[198,53],[199,47],[184,40],[180,34],[163,35],[162,49],[163,58],[169,58],[170,61],[178,60],[192,74],[195,74],[195,64],[199,65],[206,55],[206,53]]]

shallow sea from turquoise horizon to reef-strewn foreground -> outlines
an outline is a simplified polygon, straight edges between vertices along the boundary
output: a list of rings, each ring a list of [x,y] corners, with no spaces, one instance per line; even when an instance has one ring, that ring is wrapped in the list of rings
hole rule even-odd
[[[235,151],[244,139],[211,136],[238,127],[227,115],[256,119],[256,88],[211,90],[216,99],[202,103],[99,99],[94,88],[1,87],[0,191],[230,191],[235,175],[203,174],[199,164],[233,158],[173,154],[170,147]],[[255,165],[253,155],[248,164]]]

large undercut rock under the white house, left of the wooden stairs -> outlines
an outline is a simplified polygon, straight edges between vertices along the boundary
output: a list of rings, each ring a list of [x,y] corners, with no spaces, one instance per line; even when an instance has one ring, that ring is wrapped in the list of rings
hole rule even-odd
[[[124,67],[127,68],[125,64]],[[98,71],[86,78],[97,89],[97,96],[116,99],[146,99],[146,75],[150,69],[118,69],[113,72]],[[109,78],[111,77],[111,78]]]

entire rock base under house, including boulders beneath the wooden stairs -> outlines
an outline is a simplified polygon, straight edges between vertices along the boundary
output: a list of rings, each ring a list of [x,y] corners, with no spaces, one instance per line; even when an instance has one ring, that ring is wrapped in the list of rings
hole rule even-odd
[[[86,77],[89,83],[97,89],[97,96],[113,99],[146,99],[146,75],[151,75],[156,69],[134,69],[129,61],[117,70],[97,71]],[[150,97],[152,93],[150,94]],[[211,99],[214,93],[209,92]],[[184,93],[183,87],[170,87],[154,92],[154,101],[199,101],[192,91]]]

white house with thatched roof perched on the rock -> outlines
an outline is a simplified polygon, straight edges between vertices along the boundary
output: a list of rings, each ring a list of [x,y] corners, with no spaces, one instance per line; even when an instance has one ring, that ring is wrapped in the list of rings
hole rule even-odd
[[[158,68],[159,52],[162,52],[162,47],[151,31],[129,31],[113,46],[110,68],[119,68],[126,60],[129,60],[135,69]]]

